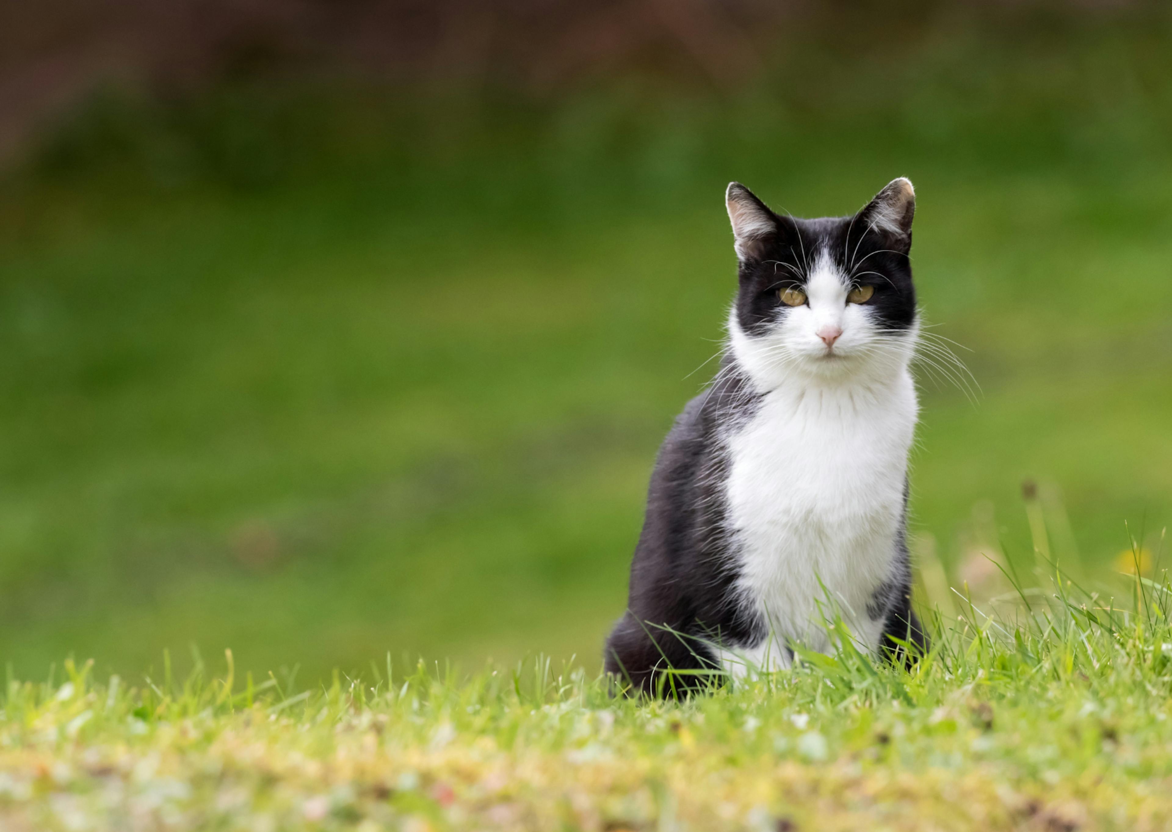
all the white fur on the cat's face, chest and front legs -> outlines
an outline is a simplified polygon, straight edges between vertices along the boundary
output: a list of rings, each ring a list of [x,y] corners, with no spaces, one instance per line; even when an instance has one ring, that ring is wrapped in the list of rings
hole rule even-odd
[[[783,667],[791,640],[829,649],[822,622],[836,613],[861,645],[879,645],[883,625],[866,607],[891,574],[904,510],[917,330],[885,336],[865,306],[846,303],[847,289],[818,252],[809,306],[758,337],[730,316],[730,347],[763,400],[725,437],[728,530],[737,591],[771,627],[758,648],[722,651],[732,672]],[[832,350],[816,334],[826,324],[843,330]]]

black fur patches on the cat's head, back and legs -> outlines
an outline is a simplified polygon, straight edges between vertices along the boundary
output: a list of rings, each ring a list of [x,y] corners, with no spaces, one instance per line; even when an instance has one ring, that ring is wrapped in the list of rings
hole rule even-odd
[[[898,181],[897,181],[898,182]],[[914,202],[902,232],[877,229],[874,212],[891,198],[892,183],[851,217],[795,219],[770,211],[748,189],[731,185],[729,198],[768,218],[771,229],[742,248],[736,314],[749,334],[765,331],[785,313],[778,291],[800,286],[819,246],[857,285],[874,286],[867,304],[881,325],[906,329],[915,320],[908,259]],[[863,273],[866,272],[866,273]],[[706,686],[717,670],[707,645],[718,641],[751,647],[768,628],[738,608],[730,588],[737,579],[735,541],[724,526],[727,452],[720,434],[754,413],[758,394],[725,357],[715,380],[688,403],[660,448],[647,494],[643,528],[631,564],[627,613],[606,643],[606,669],[633,691],[669,695]],[[778,472],[784,475],[784,472]],[[906,506],[906,488],[905,488]],[[911,566],[902,533],[891,577],[874,593],[867,613],[885,621],[885,635],[919,651],[927,637],[911,607]],[[886,640],[892,661],[909,661]],[[666,669],[673,674],[663,674]]]

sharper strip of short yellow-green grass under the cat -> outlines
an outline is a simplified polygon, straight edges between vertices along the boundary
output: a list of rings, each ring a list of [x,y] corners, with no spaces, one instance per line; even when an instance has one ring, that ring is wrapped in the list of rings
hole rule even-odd
[[[1044,564],[1043,564],[1044,566]],[[683,702],[612,698],[548,659],[472,677],[9,679],[5,830],[1163,830],[1172,587],[1065,576],[936,614],[909,672],[838,631]]]

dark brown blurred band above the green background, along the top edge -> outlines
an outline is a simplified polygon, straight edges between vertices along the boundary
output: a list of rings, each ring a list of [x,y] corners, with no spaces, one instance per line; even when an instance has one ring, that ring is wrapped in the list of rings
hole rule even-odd
[[[646,74],[731,93],[803,42],[856,60],[968,27],[1063,34],[1129,0],[45,0],[0,9],[0,148],[107,87],[171,99],[258,76],[503,87],[538,100]]]

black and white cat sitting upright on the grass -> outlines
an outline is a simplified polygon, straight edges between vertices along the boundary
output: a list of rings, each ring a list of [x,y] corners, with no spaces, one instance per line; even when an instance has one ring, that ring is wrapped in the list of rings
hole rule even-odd
[[[725,201],[727,349],[660,448],[606,643],[607,670],[646,692],[667,667],[738,674],[788,667],[793,642],[829,650],[836,614],[871,652],[888,636],[927,647],[905,542],[912,183],[850,217],[779,216],[736,182]]]

